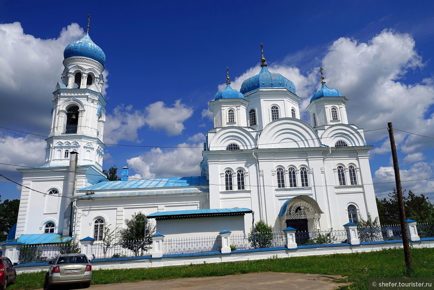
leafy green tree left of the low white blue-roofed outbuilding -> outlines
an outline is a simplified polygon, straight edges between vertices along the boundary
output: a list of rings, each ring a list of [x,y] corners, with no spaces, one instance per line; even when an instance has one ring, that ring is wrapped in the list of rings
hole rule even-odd
[[[118,244],[122,248],[131,250],[136,257],[143,256],[146,251],[152,249],[155,226],[147,222],[145,214],[134,213],[131,219],[125,219],[125,225],[127,228],[119,231]]]

